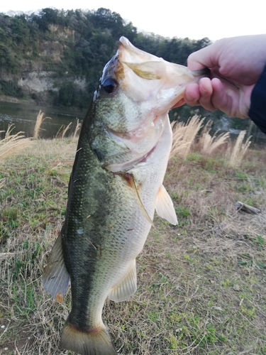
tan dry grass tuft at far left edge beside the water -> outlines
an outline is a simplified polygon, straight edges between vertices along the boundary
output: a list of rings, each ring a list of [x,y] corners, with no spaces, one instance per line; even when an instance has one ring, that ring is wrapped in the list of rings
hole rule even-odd
[[[33,143],[31,138],[23,136],[23,132],[11,134],[12,130],[13,126],[11,125],[6,131],[5,138],[0,141],[0,160],[20,152]]]

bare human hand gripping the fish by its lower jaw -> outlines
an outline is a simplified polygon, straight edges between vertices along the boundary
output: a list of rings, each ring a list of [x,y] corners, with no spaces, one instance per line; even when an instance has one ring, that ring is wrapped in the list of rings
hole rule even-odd
[[[266,35],[223,38],[187,60],[190,70],[209,67],[210,78],[187,84],[184,102],[245,118],[255,83],[266,64]]]

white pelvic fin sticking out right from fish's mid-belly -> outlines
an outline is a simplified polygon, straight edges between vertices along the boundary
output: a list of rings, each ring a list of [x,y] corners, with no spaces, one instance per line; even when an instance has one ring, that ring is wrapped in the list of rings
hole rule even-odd
[[[155,209],[160,217],[166,219],[171,224],[174,224],[174,226],[177,225],[177,214],[174,210],[174,204],[172,203],[168,192],[165,190],[164,185],[161,185],[157,192]]]

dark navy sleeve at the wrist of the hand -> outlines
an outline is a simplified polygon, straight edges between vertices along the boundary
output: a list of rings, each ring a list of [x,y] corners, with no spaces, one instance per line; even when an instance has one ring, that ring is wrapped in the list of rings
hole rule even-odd
[[[251,93],[248,116],[266,134],[266,66]]]

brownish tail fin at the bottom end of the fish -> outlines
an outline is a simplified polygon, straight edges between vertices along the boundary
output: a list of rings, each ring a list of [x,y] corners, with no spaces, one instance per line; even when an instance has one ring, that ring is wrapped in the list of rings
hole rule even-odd
[[[82,331],[68,321],[62,332],[60,346],[80,355],[117,355],[105,327]]]

